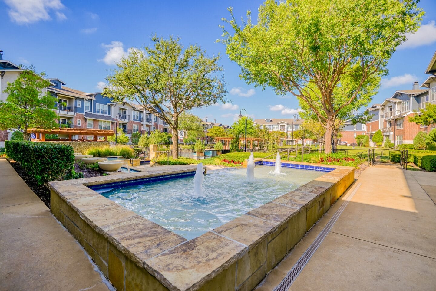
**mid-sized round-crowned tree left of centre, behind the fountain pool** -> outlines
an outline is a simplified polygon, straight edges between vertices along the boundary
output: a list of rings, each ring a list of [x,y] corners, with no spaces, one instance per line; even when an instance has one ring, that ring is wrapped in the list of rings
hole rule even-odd
[[[168,123],[173,131],[173,158],[178,158],[182,112],[226,102],[225,84],[216,74],[220,56],[208,58],[196,45],[184,49],[180,39],[153,37],[153,46],[133,49],[106,80],[103,95],[114,102],[134,100]]]

